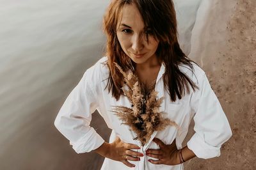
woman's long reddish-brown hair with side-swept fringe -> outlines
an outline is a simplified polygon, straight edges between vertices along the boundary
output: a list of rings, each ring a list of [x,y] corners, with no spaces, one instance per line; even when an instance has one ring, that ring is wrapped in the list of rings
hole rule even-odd
[[[119,100],[120,95],[124,95],[121,89],[124,77],[116,68],[115,63],[120,65],[125,72],[127,70],[134,72],[136,65],[122,50],[116,36],[116,26],[125,4],[135,4],[140,11],[145,28],[149,27],[150,34],[159,40],[156,56],[165,65],[164,88],[168,90],[171,101],[175,101],[177,97],[182,98],[186,89],[189,92],[189,84],[195,91],[198,87],[186,74],[180,72],[178,67],[180,64],[188,65],[189,69],[194,72],[191,62],[195,62],[188,59],[180,49],[172,0],[112,0],[103,20],[103,29],[108,40],[106,47],[108,63],[105,63],[109,68],[107,86],[109,85],[108,91],[112,92],[112,97]]]

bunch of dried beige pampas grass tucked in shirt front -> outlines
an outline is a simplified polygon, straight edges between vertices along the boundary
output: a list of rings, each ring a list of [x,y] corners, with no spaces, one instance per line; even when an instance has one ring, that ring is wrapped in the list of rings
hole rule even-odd
[[[123,86],[125,96],[132,104],[132,109],[124,106],[114,106],[112,112],[123,121],[122,124],[128,125],[133,130],[141,145],[148,143],[153,132],[163,130],[166,126],[171,125],[178,127],[174,121],[163,118],[165,112],[159,112],[159,107],[163,102],[163,97],[157,99],[157,91],[154,90],[155,83],[148,87],[138,81],[138,77],[131,70],[125,73],[122,68],[116,64],[116,67],[124,75],[124,82],[129,89]]]

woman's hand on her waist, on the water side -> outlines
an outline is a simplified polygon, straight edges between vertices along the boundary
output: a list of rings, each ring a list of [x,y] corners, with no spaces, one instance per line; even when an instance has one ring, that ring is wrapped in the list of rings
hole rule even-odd
[[[140,150],[140,147],[136,144],[124,143],[119,137],[116,137],[113,143],[109,143],[105,157],[123,162],[126,166],[135,167],[128,160],[139,161],[140,157],[143,157],[143,153],[132,151],[132,149]]]

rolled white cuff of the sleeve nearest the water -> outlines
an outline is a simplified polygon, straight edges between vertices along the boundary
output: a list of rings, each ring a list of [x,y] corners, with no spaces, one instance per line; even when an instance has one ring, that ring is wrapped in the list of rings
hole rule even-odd
[[[72,144],[72,148],[76,153],[86,153],[99,148],[103,143],[104,139],[97,134],[94,128],[90,128],[90,131],[81,137],[76,143]]]

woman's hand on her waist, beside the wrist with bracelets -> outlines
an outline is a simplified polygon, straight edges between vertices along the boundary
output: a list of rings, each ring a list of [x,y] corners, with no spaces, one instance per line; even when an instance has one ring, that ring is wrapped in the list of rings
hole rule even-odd
[[[156,137],[153,141],[159,145],[160,149],[148,149],[146,151],[146,155],[148,157],[158,158],[159,160],[149,159],[149,162],[152,164],[165,164],[169,166],[180,164],[179,150],[177,150],[175,139],[172,144],[164,144],[163,141]]]

